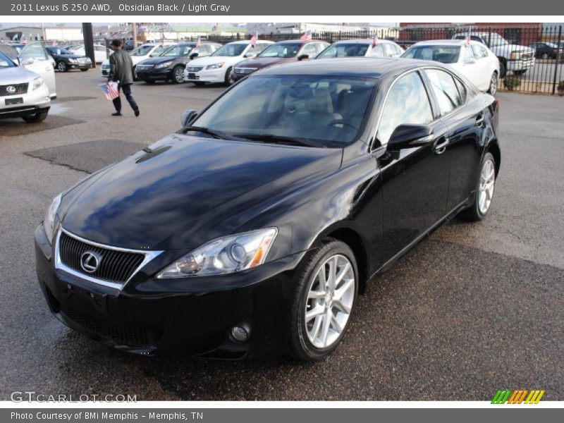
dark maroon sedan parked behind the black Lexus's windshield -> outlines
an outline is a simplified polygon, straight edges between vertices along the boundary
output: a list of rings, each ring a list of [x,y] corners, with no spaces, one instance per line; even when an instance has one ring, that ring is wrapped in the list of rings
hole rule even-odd
[[[329,47],[328,42],[312,39],[301,41],[293,39],[277,42],[266,47],[257,57],[235,63],[231,71],[231,80],[238,81],[250,73],[268,66],[281,65],[298,60],[313,59],[321,51]]]

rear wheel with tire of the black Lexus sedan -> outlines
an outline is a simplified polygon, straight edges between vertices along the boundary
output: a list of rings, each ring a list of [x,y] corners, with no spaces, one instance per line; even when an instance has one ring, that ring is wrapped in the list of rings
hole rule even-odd
[[[480,166],[476,185],[474,202],[467,209],[462,210],[459,216],[467,221],[481,221],[486,216],[496,187],[496,159],[491,153],[486,153]]]

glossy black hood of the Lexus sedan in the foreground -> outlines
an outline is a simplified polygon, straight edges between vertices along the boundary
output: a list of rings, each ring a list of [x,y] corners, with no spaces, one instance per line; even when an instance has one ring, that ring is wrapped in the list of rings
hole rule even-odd
[[[131,249],[194,248],[233,233],[285,192],[341,165],[342,150],[171,135],[63,195],[82,238]]]

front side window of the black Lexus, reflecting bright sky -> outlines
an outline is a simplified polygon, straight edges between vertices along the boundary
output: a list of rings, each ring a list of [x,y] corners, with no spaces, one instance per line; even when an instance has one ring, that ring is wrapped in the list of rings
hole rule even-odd
[[[381,145],[386,145],[399,125],[424,125],[432,121],[431,104],[423,81],[417,72],[408,73],[388,92],[376,137]]]

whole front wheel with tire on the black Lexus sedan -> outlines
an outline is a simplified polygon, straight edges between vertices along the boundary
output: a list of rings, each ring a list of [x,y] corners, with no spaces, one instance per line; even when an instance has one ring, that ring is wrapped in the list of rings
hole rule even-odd
[[[328,240],[300,269],[290,312],[290,348],[300,360],[322,360],[341,343],[350,324],[357,262],[348,245]]]

